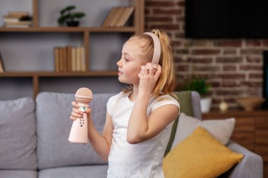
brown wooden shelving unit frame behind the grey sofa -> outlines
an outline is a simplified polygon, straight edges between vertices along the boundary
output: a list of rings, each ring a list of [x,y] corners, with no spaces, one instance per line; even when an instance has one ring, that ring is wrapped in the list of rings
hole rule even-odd
[[[116,71],[90,70],[90,36],[92,33],[129,33],[136,34],[144,32],[144,0],[132,0],[134,2],[135,11],[133,15],[133,26],[108,28],[108,27],[40,27],[39,26],[39,2],[45,0],[32,0],[32,27],[30,28],[6,28],[0,27],[0,35],[4,33],[78,33],[83,35],[83,46],[85,47],[85,65],[86,72],[13,72],[6,71],[0,73],[1,77],[32,77],[33,97],[39,93],[39,78],[40,77],[115,77]],[[104,19],[99,19],[103,21]],[[51,44],[54,46],[54,44]],[[1,49],[0,49],[1,51]],[[51,59],[53,60],[53,59]]]

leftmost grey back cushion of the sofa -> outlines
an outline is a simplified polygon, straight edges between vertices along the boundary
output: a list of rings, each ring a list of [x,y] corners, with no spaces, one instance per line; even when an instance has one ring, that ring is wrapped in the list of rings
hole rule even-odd
[[[35,101],[0,101],[0,113],[0,170],[36,170]]]

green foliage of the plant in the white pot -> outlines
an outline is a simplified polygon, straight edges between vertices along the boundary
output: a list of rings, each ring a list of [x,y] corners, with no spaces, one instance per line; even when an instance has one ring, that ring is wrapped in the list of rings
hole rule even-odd
[[[183,90],[197,91],[200,96],[207,95],[211,84],[206,82],[205,78],[193,78],[183,88]]]

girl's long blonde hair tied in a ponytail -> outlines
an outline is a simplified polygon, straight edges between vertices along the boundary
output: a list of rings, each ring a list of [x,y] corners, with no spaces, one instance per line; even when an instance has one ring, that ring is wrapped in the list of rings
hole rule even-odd
[[[173,96],[172,91],[175,87],[176,77],[169,36],[162,30],[152,30],[151,32],[156,34],[160,40],[161,55],[159,65],[162,67],[162,73],[157,80],[157,83],[155,84],[152,94],[156,98],[159,98],[159,96],[162,96],[164,94],[171,94]],[[145,61],[147,63],[152,62],[152,56],[154,54],[154,42],[152,40],[152,37],[150,37],[148,34],[140,33],[133,35],[130,37],[130,39],[138,39],[144,42],[141,43],[143,45],[141,45],[140,48],[146,53]],[[123,89],[123,92],[125,93],[129,91],[133,91],[133,86],[131,84],[127,89]]]

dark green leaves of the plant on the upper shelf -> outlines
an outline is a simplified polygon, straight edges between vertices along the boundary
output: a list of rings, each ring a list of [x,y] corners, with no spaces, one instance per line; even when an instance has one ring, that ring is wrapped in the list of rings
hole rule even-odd
[[[66,21],[75,21],[75,18],[83,18],[85,13],[83,12],[72,12],[75,9],[75,6],[66,6],[60,11],[61,16],[58,18],[59,25],[63,25]]]

